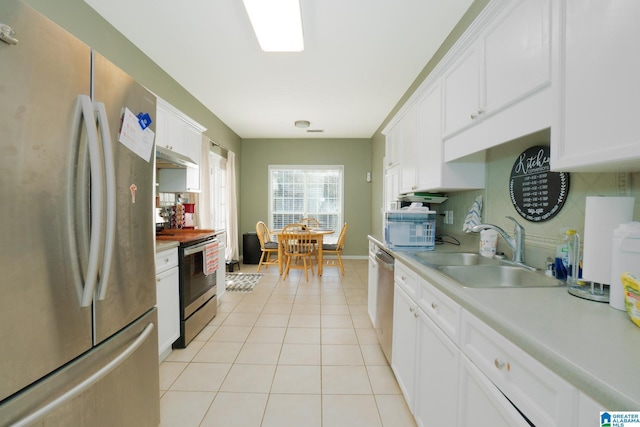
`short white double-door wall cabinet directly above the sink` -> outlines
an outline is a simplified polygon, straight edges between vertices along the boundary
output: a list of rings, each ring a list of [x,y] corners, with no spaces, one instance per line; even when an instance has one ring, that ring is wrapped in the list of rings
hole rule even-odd
[[[551,125],[550,0],[495,0],[445,59],[445,161]]]

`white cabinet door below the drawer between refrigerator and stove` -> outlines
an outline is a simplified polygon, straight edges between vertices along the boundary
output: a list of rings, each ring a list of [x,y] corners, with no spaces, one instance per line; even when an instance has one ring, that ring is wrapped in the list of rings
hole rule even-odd
[[[171,344],[180,337],[180,295],[178,267],[170,268],[156,276],[158,307],[158,353],[166,357]]]

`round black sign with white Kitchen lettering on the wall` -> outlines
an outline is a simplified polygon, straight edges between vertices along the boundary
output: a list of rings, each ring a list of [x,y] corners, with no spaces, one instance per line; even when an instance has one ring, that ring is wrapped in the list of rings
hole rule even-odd
[[[549,162],[549,147],[535,146],[520,154],[511,169],[511,203],[528,221],[550,220],[567,200],[569,174],[550,172]]]

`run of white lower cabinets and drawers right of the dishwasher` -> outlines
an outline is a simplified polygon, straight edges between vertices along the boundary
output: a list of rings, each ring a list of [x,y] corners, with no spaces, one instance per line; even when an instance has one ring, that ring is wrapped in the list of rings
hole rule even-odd
[[[578,426],[598,408],[397,259],[394,289],[391,366],[420,427]]]

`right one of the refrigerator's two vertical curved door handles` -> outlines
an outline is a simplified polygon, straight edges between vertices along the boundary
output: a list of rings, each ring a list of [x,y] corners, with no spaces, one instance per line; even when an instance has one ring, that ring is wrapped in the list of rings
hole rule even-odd
[[[102,139],[102,148],[104,152],[105,187],[107,190],[104,256],[102,258],[102,266],[100,268],[100,281],[98,283],[97,292],[98,299],[103,300],[107,295],[116,236],[116,166],[113,157],[114,147],[109,133],[109,119],[107,117],[107,111],[104,107],[104,103],[96,102],[95,111],[97,113],[98,128],[100,129],[100,137]]]

